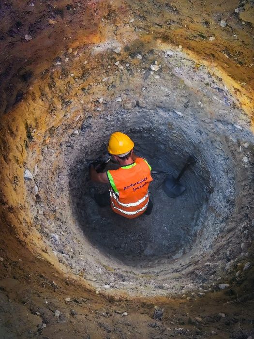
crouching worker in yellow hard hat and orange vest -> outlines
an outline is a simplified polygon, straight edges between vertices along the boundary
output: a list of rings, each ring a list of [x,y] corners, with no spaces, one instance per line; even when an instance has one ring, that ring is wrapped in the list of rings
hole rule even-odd
[[[101,207],[111,204],[115,213],[130,219],[151,214],[153,207],[148,192],[151,167],[146,159],[134,154],[133,148],[134,142],[126,134],[115,132],[110,136],[108,152],[119,163],[119,169],[97,173],[90,166],[92,181],[110,185],[106,196],[94,195],[97,204]]]

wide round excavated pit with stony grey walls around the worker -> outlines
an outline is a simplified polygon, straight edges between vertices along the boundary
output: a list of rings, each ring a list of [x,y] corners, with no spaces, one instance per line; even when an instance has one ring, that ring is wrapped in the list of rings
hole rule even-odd
[[[206,68],[193,72],[195,66],[187,60],[179,69],[179,58],[184,60],[181,52],[168,57],[153,51],[145,62],[149,65],[155,58],[164,72],[159,72],[159,83],[149,77],[149,88],[138,92],[138,101],[130,83],[122,92],[131,64],[103,100],[97,84],[86,88],[85,102],[94,102],[95,113],[86,108],[84,118],[82,114],[71,122],[67,118],[45,133],[35,178],[39,192],[30,200],[37,228],[60,264],[110,294],[179,294],[197,289],[200,283],[208,289],[211,272],[219,277],[227,258],[237,259],[241,253],[239,240],[228,230],[235,222],[243,227],[241,220],[246,217],[240,207],[243,186],[239,183],[252,190],[253,135],[248,121],[221,80],[211,77]],[[142,80],[148,76],[145,67],[133,75],[133,86],[146,81]],[[112,83],[110,72],[103,79],[105,86]],[[185,84],[179,74],[184,74]],[[194,88],[189,85],[193,80]],[[68,109],[76,110],[85,102],[72,100]],[[131,107],[126,108],[128,103]],[[165,175],[155,174],[150,216],[128,220],[110,207],[99,208],[91,192],[103,193],[108,186],[90,182],[89,164],[106,152],[109,136],[116,130],[134,140],[136,154],[146,157],[153,170],[177,176],[193,154],[197,163],[181,179],[184,194],[169,198],[161,186]],[[48,171],[50,167],[54,170]],[[27,185],[32,191],[34,184]],[[244,231],[245,227],[251,226],[246,224]],[[223,240],[225,234],[231,245],[211,264],[217,244],[228,241]]]

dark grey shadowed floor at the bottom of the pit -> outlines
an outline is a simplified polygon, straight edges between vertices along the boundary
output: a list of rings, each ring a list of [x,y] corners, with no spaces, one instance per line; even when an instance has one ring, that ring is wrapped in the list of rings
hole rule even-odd
[[[138,141],[135,150],[138,153]],[[148,160],[152,167],[158,163],[156,158]],[[110,206],[99,207],[95,203],[91,189],[103,193],[109,185],[91,183],[87,162],[79,159],[78,163],[79,166],[73,166],[70,171],[69,180],[73,213],[92,246],[106,256],[139,267],[149,266],[158,257],[172,259],[177,252],[191,247],[196,235],[196,220],[206,202],[203,185],[194,172],[190,171],[189,176],[195,190],[201,192],[199,200],[194,199],[190,189],[177,199],[169,198],[162,186],[158,188],[164,176],[154,176],[149,186],[154,201],[152,214],[127,219],[114,213]],[[169,168],[169,172],[175,174],[174,170]]]

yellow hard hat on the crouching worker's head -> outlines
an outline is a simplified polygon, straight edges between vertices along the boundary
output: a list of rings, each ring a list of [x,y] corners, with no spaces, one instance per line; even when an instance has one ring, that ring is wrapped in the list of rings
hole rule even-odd
[[[124,133],[114,132],[108,142],[108,152],[115,155],[128,154],[134,147],[134,142]]]

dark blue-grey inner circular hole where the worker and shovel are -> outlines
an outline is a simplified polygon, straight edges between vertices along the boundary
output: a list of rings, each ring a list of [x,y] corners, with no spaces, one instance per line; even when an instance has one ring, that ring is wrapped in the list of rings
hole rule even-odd
[[[143,121],[142,112],[139,119]],[[152,175],[149,193],[154,207],[150,216],[127,219],[115,214],[110,206],[99,207],[94,201],[94,192],[107,195],[108,188],[89,181],[88,165],[89,161],[95,159],[95,154],[105,152],[105,143],[110,135],[108,132],[107,137],[97,137],[96,140],[93,128],[84,133],[86,155],[82,149],[70,176],[74,213],[85,236],[105,255],[133,266],[151,265],[159,257],[171,260],[178,252],[188,251],[195,241],[197,225],[200,223],[198,220],[211,192],[210,173],[202,149],[180,127],[168,123],[168,119],[164,123],[160,121],[160,124],[152,122],[151,125],[127,129],[128,125],[122,123],[121,130],[134,140],[135,153],[147,158],[152,170],[167,171],[177,177],[190,154],[194,154],[198,161],[180,179],[186,189],[176,199],[164,192],[162,183],[167,174]],[[104,135],[105,131],[101,130],[101,133]],[[96,145],[101,145],[99,150]],[[77,166],[78,163],[81,166]],[[107,169],[110,168],[112,165]]]

